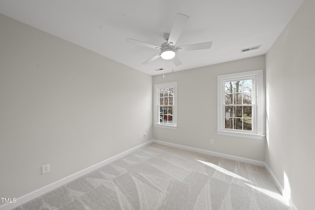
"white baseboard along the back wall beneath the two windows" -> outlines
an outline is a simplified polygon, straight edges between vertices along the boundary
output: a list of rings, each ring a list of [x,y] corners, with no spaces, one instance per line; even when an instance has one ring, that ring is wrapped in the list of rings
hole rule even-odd
[[[236,161],[240,161],[240,162],[244,162],[244,163],[250,163],[250,164],[258,165],[258,166],[265,166],[265,162],[262,162],[262,161],[247,159],[247,158],[243,158],[243,157],[237,157],[237,156],[223,154],[223,153],[209,151],[209,150],[202,150],[202,149],[187,147],[187,146],[183,146],[183,145],[177,145],[177,144],[168,143],[168,142],[162,142],[162,141],[158,141],[158,140],[153,140],[153,142],[157,143],[157,144],[169,146],[169,147],[175,147],[175,148],[179,148],[179,149],[195,151],[195,152],[199,152],[199,153],[203,153],[203,154],[213,155],[213,156],[217,156],[217,157],[223,157],[226,159],[236,160]]]

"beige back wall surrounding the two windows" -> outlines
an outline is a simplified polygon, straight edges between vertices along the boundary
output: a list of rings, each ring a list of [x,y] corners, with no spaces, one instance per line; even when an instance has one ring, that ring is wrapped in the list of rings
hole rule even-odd
[[[264,56],[174,72],[165,74],[165,78],[154,76],[154,84],[178,83],[178,129],[154,127],[154,139],[264,161],[264,138],[254,140],[216,132],[217,76],[258,69],[265,69]],[[214,145],[210,145],[210,139],[214,139]]]

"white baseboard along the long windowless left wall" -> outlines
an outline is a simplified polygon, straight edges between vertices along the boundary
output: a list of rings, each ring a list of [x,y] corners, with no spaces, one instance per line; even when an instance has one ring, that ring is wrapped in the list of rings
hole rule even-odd
[[[117,154],[117,155],[115,155],[115,156],[113,156],[111,158],[108,158],[108,159],[106,159],[106,160],[104,160],[104,161],[102,161],[100,163],[96,163],[93,166],[90,166],[90,167],[88,167],[86,169],[83,169],[83,170],[81,170],[81,171],[79,171],[79,172],[77,172],[75,174],[72,174],[72,175],[70,175],[68,177],[65,177],[65,178],[63,178],[61,180],[55,181],[55,182],[53,182],[51,184],[48,184],[48,185],[46,185],[46,186],[44,186],[44,187],[42,187],[40,189],[37,189],[37,190],[35,190],[35,191],[33,191],[33,192],[29,193],[29,194],[26,194],[26,195],[24,195],[22,197],[19,197],[19,198],[16,199],[16,203],[3,204],[3,205],[0,206],[0,210],[11,210],[11,209],[13,209],[15,207],[18,207],[18,206],[20,206],[20,205],[22,205],[22,204],[24,204],[24,203],[26,203],[28,201],[31,201],[34,198],[37,198],[38,196],[41,196],[41,195],[43,195],[43,194],[45,194],[45,193],[47,193],[47,192],[49,192],[49,191],[51,191],[53,189],[56,189],[57,187],[62,186],[63,184],[66,184],[66,183],[68,183],[68,182],[70,182],[72,180],[75,180],[75,179],[77,179],[79,177],[82,177],[82,176],[84,176],[84,175],[86,175],[86,174],[88,174],[88,173],[90,173],[90,172],[92,172],[92,171],[94,171],[94,170],[104,166],[104,165],[112,163],[112,162],[122,158],[123,156],[126,156],[127,154],[133,152],[134,150],[138,150],[138,149],[140,149],[140,148],[142,148],[142,147],[144,147],[144,146],[146,146],[148,144],[151,144],[152,142],[153,142],[153,140],[145,142],[145,143],[143,143],[143,144],[141,144],[139,146],[136,146],[136,147],[134,147],[134,148],[132,148],[130,150],[126,150],[126,151],[124,151],[124,152],[122,152],[120,154]]]

